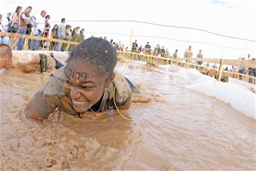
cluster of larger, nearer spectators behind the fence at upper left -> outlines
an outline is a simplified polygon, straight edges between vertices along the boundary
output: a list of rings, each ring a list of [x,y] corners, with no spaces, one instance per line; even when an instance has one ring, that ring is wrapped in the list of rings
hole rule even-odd
[[[62,18],[59,25],[50,26],[50,15],[46,10],[41,10],[40,13],[32,15],[32,7],[18,6],[14,13],[7,13],[7,17],[0,14],[0,31],[7,31],[18,34],[29,34],[37,37],[50,37],[60,40],[72,40],[80,43],[84,40],[84,28],[76,27],[72,30],[72,26],[66,25],[66,19]],[[17,40],[10,37],[1,37],[0,44],[8,44],[12,49],[24,49],[24,38]],[[31,50],[49,49],[56,51],[70,50],[72,46],[67,46],[66,43],[56,43],[45,40],[29,40],[28,48]]]

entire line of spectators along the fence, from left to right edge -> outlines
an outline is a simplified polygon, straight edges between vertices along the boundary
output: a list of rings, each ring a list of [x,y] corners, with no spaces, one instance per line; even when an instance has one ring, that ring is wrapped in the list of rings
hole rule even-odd
[[[75,27],[72,29],[72,26],[69,24],[66,25],[66,19],[62,18],[59,25],[55,24],[53,27],[50,26],[50,15],[47,14],[46,10],[41,10],[38,13],[38,17],[35,17],[32,13],[32,7],[26,7],[23,10],[23,7],[17,6],[14,13],[11,15],[11,12],[7,13],[6,17],[3,17],[0,14],[0,31],[8,31],[11,33],[18,34],[30,34],[37,37],[50,37],[51,39],[59,39],[59,40],[70,40],[80,43],[84,40],[84,28]],[[107,37],[101,37],[107,39]],[[10,38],[10,37],[0,37],[0,44],[5,43],[12,47],[12,49],[22,50],[24,49],[24,39],[23,38]],[[175,49],[172,55],[170,55],[168,49],[165,49],[164,46],[160,46],[157,44],[154,48],[151,47],[150,43],[147,42],[145,46],[138,44],[137,40],[132,43],[131,50],[126,46],[124,49],[124,44],[120,43],[120,41],[114,42],[114,40],[110,40],[112,46],[119,51],[131,51],[140,54],[146,55],[154,55],[163,58],[172,58],[174,60],[178,60],[178,49]],[[56,43],[54,41],[45,41],[45,40],[29,40],[28,48],[31,50],[38,49],[49,49],[55,51],[70,51],[74,45],[68,45],[67,43]],[[193,52],[192,47],[188,46],[187,49],[184,50],[183,58],[192,58]],[[197,53],[197,58],[203,58],[202,50]],[[248,59],[250,59],[250,55],[248,54]],[[239,58],[239,60],[245,60],[245,58]],[[252,58],[254,60],[254,58]],[[197,62],[197,65],[203,65],[203,62]],[[209,65],[209,64],[207,64]],[[207,66],[206,65],[206,66]],[[216,66],[214,66],[215,68]],[[243,68],[242,66],[238,68],[231,68],[230,71],[235,71],[240,74],[249,74],[256,76],[256,71],[253,68]]]

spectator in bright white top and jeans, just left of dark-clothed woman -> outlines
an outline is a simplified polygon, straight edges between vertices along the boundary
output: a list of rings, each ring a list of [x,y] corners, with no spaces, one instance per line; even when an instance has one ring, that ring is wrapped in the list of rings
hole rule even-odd
[[[37,22],[38,31],[34,32],[34,35],[38,36],[38,37],[42,37],[43,33],[44,33],[44,28],[45,28],[44,17],[46,15],[46,11],[42,10],[40,14],[41,14],[41,17],[38,17],[38,22]],[[40,42],[41,42],[41,40],[32,40],[31,49],[38,50],[38,46],[39,46]]]

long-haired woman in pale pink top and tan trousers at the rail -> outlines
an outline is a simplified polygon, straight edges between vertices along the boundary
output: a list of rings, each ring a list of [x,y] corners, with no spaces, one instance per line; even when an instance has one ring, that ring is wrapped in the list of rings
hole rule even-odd
[[[23,7],[17,6],[15,12],[13,13],[13,16],[11,17],[11,28],[10,28],[11,33],[17,33],[17,31],[19,30],[19,26],[20,26],[19,16],[20,16],[21,10],[23,10]],[[11,40],[10,40],[11,49],[15,48],[16,42],[17,40],[14,40],[14,37],[11,37]]]

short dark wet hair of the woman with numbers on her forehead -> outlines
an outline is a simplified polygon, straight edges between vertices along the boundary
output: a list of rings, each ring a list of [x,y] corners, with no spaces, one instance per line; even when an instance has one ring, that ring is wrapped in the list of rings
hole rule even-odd
[[[90,37],[75,46],[69,54],[69,62],[73,59],[89,60],[99,68],[99,73],[111,77],[117,64],[117,52],[108,40]]]

